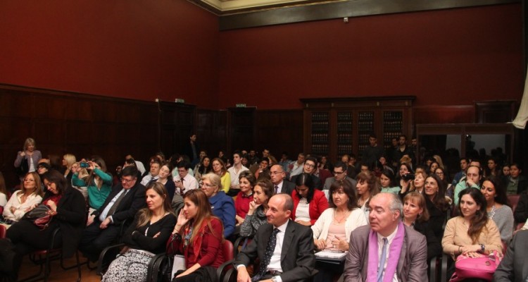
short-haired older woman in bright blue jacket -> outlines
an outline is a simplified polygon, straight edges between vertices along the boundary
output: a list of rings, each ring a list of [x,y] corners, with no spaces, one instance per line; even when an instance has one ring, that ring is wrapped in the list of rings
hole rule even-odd
[[[221,187],[222,181],[217,174],[207,173],[201,177],[200,189],[206,193],[213,214],[224,223],[224,237],[228,238],[234,232],[236,212],[233,198],[225,195]]]

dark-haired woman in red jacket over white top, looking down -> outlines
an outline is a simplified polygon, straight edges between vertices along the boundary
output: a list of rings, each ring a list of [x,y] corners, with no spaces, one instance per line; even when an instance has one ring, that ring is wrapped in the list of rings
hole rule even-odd
[[[294,210],[291,219],[306,226],[311,226],[319,219],[325,209],[328,209],[328,200],[325,193],[315,189],[313,178],[308,173],[301,173],[295,180],[296,188],[291,192],[294,199]]]

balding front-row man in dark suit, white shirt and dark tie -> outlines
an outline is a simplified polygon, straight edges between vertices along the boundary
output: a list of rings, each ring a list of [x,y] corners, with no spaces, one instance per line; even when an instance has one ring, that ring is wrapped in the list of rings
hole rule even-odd
[[[253,240],[242,250],[234,265],[237,281],[289,282],[313,276],[315,255],[313,233],[289,219],[294,202],[286,194],[277,194],[268,202],[268,223],[260,226]],[[246,266],[260,259],[260,270],[249,277]]]

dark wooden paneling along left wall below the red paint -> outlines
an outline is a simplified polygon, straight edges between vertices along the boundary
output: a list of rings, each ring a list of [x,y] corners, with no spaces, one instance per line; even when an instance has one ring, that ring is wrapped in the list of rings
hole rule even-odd
[[[16,185],[16,152],[33,137],[44,157],[98,154],[113,173],[125,154],[146,161],[157,151],[157,126],[153,102],[0,85],[0,169]]]

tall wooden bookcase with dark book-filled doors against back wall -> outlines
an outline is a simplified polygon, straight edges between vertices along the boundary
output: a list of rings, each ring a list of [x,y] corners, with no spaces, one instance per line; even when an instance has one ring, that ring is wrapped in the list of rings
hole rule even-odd
[[[385,148],[401,134],[410,140],[414,100],[414,96],[301,99],[304,152],[335,161],[343,154],[361,157],[370,133]]]

